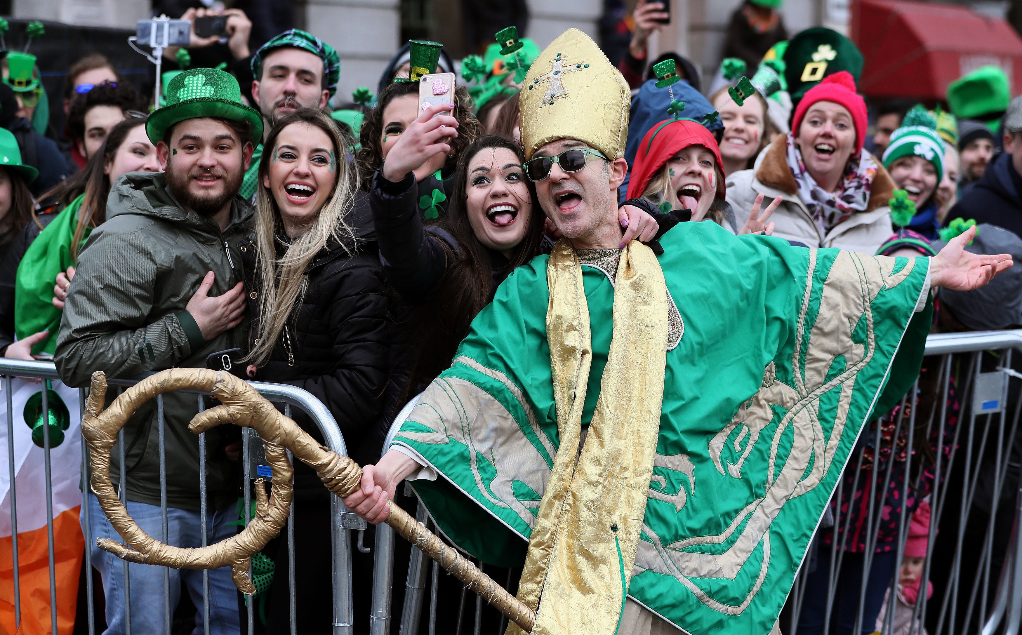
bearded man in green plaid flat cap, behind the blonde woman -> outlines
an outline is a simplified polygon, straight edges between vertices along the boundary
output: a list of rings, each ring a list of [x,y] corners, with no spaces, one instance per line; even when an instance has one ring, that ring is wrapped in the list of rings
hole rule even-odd
[[[252,98],[263,114],[267,134],[283,114],[300,107],[325,108],[340,79],[337,51],[300,29],[285,31],[261,46],[251,65]],[[263,144],[259,143],[239,192],[246,200],[256,194],[262,155]]]

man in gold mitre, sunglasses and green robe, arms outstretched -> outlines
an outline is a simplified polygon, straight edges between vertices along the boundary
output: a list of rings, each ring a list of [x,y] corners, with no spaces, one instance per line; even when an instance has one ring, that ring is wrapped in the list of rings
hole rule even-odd
[[[964,252],[972,231],[886,258],[708,222],[619,248],[630,100],[579,31],[532,64],[521,141],[563,238],[501,284],[345,503],[378,523],[418,477],[448,539],[524,566],[538,635],[765,635],[892,364],[918,372],[930,288],[1011,259]]]

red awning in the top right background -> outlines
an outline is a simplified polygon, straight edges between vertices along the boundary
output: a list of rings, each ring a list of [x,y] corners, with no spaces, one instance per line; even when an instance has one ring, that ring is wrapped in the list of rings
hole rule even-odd
[[[1005,70],[1012,95],[1022,91],[1022,38],[965,7],[855,0],[851,39],[864,57],[858,89],[870,97],[943,101],[948,84],[986,64]]]

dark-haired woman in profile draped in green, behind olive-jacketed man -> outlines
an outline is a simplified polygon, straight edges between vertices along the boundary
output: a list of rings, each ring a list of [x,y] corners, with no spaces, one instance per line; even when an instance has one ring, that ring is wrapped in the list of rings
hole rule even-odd
[[[53,354],[79,250],[106,220],[110,185],[128,172],[160,171],[144,124],[142,118],[119,123],[85,169],[40,197],[47,207],[26,225],[0,266],[0,351],[5,357]]]

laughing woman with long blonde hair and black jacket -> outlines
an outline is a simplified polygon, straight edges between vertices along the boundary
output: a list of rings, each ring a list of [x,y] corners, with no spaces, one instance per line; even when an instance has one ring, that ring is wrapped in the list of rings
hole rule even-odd
[[[252,320],[249,376],[312,393],[333,414],[349,454],[365,463],[379,456],[379,443],[365,448],[387,381],[389,300],[376,244],[364,231],[368,223],[355,219],[356,166],[336,160],[351,145],[318,108],[282,117],[259,165],[256,232],[238,248]],[[304,413],[291,416],[322,442]],[[296,628],[327,633],[330,559],[321,554],[330,540],[331,495],[299,463],[294,498]],[[265,552],[276,562],[267,632],[287,633],[287,548],[280,541]],[[357,575],[370,575],[371,557],[354,553],[353,559]],[[355,598],[356,605],[368,605],[369,586],[357,585]]]

